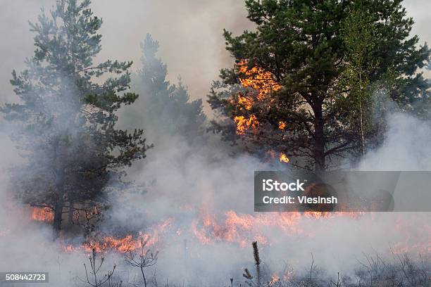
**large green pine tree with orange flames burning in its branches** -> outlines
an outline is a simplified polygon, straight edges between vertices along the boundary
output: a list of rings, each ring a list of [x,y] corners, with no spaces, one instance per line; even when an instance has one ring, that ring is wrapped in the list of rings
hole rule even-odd
[[[361,132],[353,116],[363,108],[351,103],[360,103],[368,87],[358,94],[346,81],[346,70],[357,65],[365,72],[362,84],[376,84],[401,109],[426,112],[429,84],[418,69],[426,65],[430,50],[418,46],[417,36],[409,37],[413,20],[401,0],[246,0],[246,8],[256,31],[234,37],[225,30],[236,64],[221,71],[208,98],[225,117],[213,122],[224,139],[245,139],[258,151],[287,153],[314,170],[365,149],[358,145],[361,134],[366,136],[365,121]],[[357,9],[368,19],[357,24],[371,27],[369,38],[375,41],[366,51],[354,51],[346,33],[346,25],[355,20],[349,15]],[[356,52],[368,56],[354,63]],[[262,94],[264,89],[249,81],[272,88]],[[422,107],[413,105],[418,101]]]

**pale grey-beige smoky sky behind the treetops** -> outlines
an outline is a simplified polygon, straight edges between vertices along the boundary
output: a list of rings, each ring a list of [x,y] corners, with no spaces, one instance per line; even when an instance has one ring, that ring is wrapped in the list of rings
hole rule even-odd
[[[37,20],[44,6],[49,11],[55,0],[0,0],[0,102],[15,97],[9,79],[13,69],[22,70],[34,50],[28,20]],[[420,43],[430,42],[429,0],[406,0],[404,6],[416,24],[413,33]],[[225,50],[223,28],[239,34],[253,29],[246,19],[243,0],[93,0],[95,15],[103,18],[103,49],[98,60],[133,60],[140,68],[142,42],[151,33],[160,42],[158,56],[168,63],[168,78],[180,75],[192,98],[206,98],[220,68],[232,65]],[[208,107],[206,107],[208,111]]]

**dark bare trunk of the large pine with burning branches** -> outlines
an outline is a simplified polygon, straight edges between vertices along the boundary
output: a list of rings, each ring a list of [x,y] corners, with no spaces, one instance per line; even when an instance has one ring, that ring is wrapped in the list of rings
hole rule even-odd
[[[314,112],[314,161],[316,162],[316,172],[325,170],[325,136],[322,113],[323,103],[316,103],[313,106]]]

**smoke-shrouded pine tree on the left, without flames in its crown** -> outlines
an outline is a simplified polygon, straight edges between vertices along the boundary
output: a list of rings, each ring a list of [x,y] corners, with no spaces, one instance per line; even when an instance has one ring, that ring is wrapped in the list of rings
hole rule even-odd
[[[144,158],[147,148],[142,129],[115,129],[115,111],[137,98],[127,91],[132,62],[93,63],[102,20],[89,6],[58,0],[30,23],[35,53],[11,79],[20,102],[1,108],[27,158],[15,177],[18,196],[52,208],[56,234],[65,208],[94,208],[107,184],[120,182],[123,167]]]

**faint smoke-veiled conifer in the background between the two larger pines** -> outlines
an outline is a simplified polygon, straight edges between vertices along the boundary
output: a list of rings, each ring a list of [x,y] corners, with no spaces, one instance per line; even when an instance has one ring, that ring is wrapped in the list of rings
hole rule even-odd
[[[141,44],[142,69],[132,81],[141,96],[125,110],[126,125],[142,123],[156,146],[172,135],[184,136],[189,143],[202,139],[206,120],[202,101],[190,101],[181,78],[178,84],[168,81],[167,65],[156,55],[158,46],[150,34]]]

